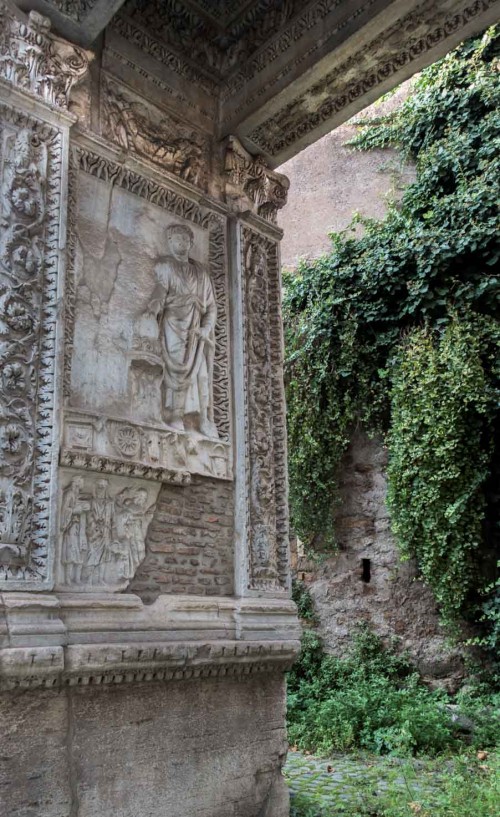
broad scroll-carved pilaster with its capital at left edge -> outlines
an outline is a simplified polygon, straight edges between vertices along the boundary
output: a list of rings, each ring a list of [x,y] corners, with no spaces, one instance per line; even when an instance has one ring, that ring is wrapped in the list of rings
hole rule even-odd
[[[81,49],[0,2],[0,587],[52,583],[71,87]],[[59,110],[55,110],[55,108]]]

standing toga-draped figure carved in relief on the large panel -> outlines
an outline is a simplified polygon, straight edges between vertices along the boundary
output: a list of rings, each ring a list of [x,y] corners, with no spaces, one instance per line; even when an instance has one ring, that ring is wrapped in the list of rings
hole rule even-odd
[[[197,415],[199,431],[218,437],[213,418],[213,360],[217,306],[212,281],[189,257],[194,234],[184,224],[167,229],[170,254],[160,257],[149,303],[160,327],[164,365],[163,404],[169,425],[184,430]]]

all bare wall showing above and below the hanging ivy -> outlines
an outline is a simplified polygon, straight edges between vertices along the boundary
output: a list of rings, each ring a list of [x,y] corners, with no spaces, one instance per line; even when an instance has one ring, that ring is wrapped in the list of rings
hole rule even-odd
[[[409,89],[405,83],[360,118],[392,110]],[[347,147],[355,133],[352,122],[342,125],[281,168],[290,177],[288,204],[280,212],[285,266],[327,252],[328,232],[345,229],[355,212],[382,218],[388,194],[397,197],[413,178],[414,170],[401,167],[393,150],[360,153]],[[320,567],[299,557],[296,575],[310,583],[330,651],[341,654],[353,626],[367,621],[383,638],[398,636],[424,675],[453,686],[463,673],[462,657],[447,646],[434,598],[418,581],[415,564],[399,561],[385,506],[385,461],[380,441],[355,434],[340,468],[340,552]],[[369,581],[363,580],[363,559],[369,560],[364,563]]]

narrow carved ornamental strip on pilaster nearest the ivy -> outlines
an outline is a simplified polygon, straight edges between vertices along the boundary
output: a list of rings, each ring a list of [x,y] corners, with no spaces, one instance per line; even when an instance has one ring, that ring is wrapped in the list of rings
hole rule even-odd
[[[242,228],[249,587],[288,587],[280,270],[275,241]]]

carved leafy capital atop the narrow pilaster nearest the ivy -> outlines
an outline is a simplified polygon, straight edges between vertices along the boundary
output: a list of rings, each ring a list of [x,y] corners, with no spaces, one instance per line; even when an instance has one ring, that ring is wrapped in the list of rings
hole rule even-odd
[[[262,156],[251,156],[234,136],[227,142],[224,171],[227,200],[275,224],[278,210],[287,201],[287,177],[270,170]]]

